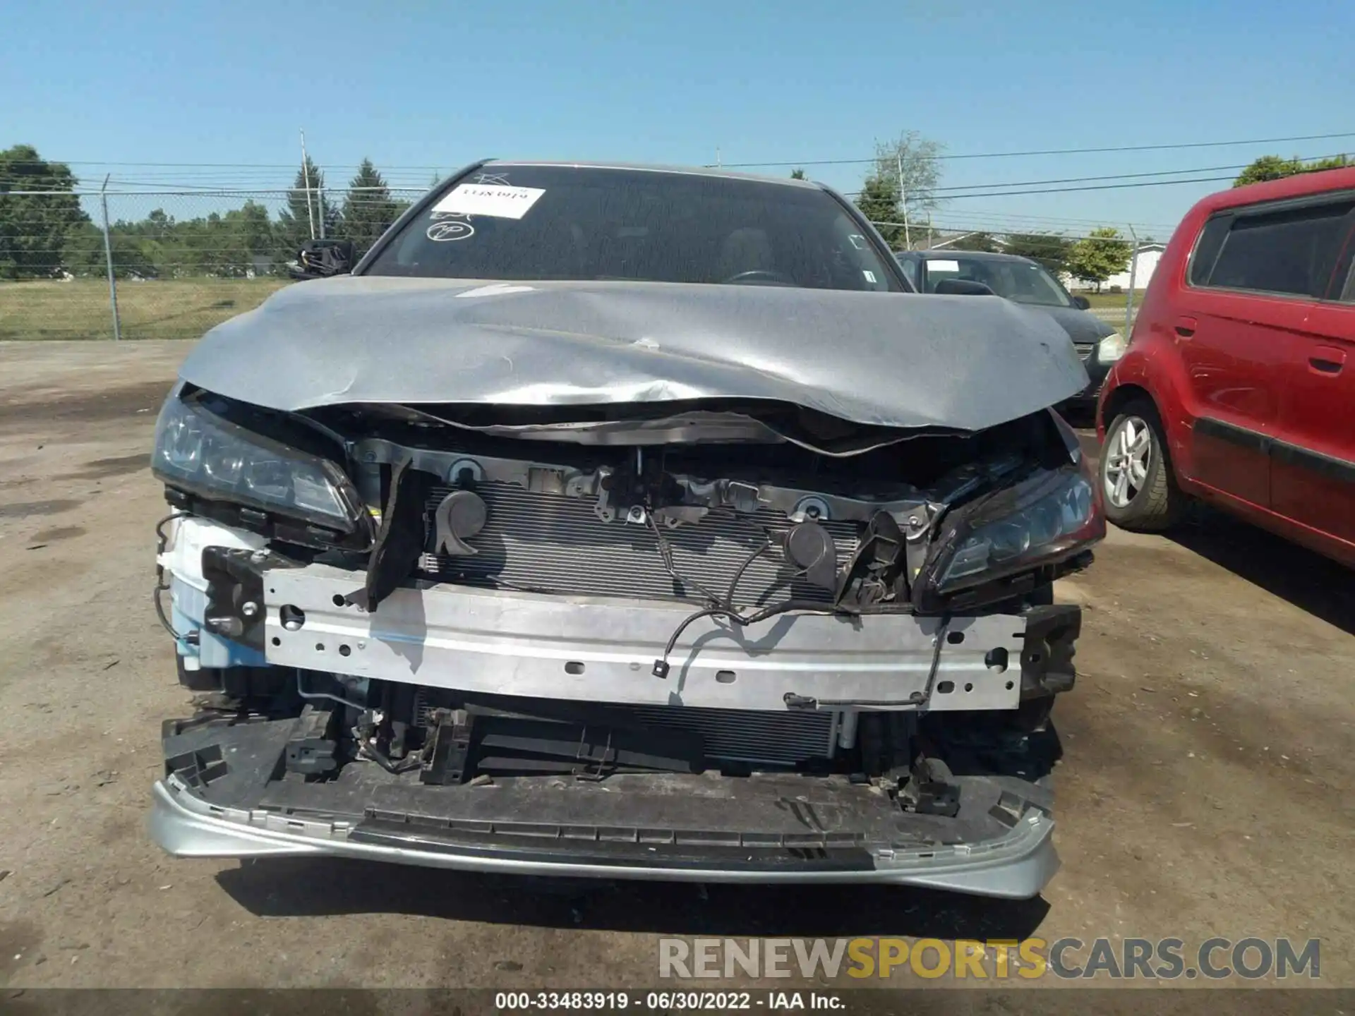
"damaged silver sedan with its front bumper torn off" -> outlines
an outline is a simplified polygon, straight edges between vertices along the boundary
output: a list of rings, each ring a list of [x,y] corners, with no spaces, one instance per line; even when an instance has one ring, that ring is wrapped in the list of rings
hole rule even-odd
[[[1034,895],[1080,627],[1050,589],[1104,535],[1049,406],[1085,385],[822,187],[473,165],[164,405],[195,711],[152,832]]]

